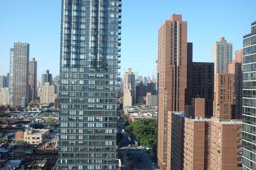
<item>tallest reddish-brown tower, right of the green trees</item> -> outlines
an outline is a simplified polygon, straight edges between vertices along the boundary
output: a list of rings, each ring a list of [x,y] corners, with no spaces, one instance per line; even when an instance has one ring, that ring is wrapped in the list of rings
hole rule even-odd
[[[172,15],[158,30],[158,128],[157,164],[172,166],[172,136],[168,111],[184,111],[187,87],[187,22]]]

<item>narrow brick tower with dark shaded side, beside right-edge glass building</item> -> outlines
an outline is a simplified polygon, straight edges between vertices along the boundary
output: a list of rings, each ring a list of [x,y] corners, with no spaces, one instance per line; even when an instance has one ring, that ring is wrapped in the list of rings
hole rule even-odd
[[[235,52],[235,59],[228,65],[228,73],[235,75],[235,113],[232,118],[241,119],[243,113],[243,50]]]

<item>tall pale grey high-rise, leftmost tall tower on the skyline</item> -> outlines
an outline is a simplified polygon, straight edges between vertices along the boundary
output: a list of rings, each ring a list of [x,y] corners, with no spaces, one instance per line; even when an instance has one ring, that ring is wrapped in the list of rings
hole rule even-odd
[[[14,43],[10,49],[9,103],[11,106],[22,106],[28,103],[28,68],[29,44]]]

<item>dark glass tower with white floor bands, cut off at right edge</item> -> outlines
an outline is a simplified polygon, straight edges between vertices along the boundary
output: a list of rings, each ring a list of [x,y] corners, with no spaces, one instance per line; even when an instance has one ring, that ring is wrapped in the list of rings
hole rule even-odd
[[[243,37],[243,169],[256,169],[256,21]]]

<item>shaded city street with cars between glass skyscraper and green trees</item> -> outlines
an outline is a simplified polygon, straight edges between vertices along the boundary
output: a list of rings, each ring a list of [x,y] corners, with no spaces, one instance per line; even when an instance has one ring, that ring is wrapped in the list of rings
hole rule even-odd
[[[118,132],[122,132],[125,129],[124,122],[118,118]],[[140,146],[134,146],[134,138],[125,130],[122,132],[124,138],[120,142],[119,157],[122,160],[122,169],[138,169],[138,170],[154,170],[157,169],[156,160],[152,158],[152,153],[147,153],[145,148]],[[128,137],[131,138],[129,143]],[[131,145],[131,146],[129,146]]]

